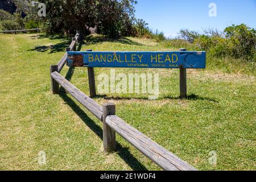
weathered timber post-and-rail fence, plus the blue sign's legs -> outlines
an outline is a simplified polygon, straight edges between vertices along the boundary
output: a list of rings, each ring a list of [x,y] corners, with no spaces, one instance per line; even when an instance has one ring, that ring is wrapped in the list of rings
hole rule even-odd
[[[66,48],[66,51],[75,51],[76,43],[80,40],[80,34],[77,32],[75,38],[72,38],[72,43]],[[88,50],[92,51],[92,50]],[[93,115],[96,116],[103,123],[103,143],[104,151],[112,152],[116,150],[115,133],[118,133],[121,137],[127,140],[135,148],[142,152],[147,158],[152,160],[160,168],[168,171],[196,171],[196,168],[192,167],[188,163],[184,162],[170,151],[166,150],[146,135],[134,127],[127,124],[117,115],[115,115],[115,105],[112,103],[106,103],[103,106],[97,104],[92,98],[86,96],[81,90],[76,88],[71,82],[66,80],[59,73],[63,69],[65,63],[68,60],[68,53],[66,52],[61,58],[58,64],[51,65],[51,85],[52,93],[58,94],[59,88],[65,89],[72,97],[80,102],[82,106],[88,109]],[[181,68],[182,69],[182,68]],[[181,71],[181,86],[184,87],[183,96],[185,96],[185,70]],[[88,67],[88,77],[90,86],[90,96],[96,96],[96,86],[94,78],[93,68]]]

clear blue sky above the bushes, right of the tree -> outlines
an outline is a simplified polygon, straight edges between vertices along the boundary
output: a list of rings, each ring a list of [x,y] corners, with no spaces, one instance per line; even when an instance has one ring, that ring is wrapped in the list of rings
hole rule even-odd
[[[256,0],[137,0],[136,18],[144,19],[166,36],[175,36],[181,28],[224,30],[232,24],[245,23],[256,28]],[[217,16],[209,16],[209,4],[217,6]]]

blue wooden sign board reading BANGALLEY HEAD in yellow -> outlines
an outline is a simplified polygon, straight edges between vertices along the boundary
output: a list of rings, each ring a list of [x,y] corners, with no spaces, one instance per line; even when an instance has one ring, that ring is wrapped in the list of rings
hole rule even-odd
[[[205,68],[205,52],[68,52],[69,67]]]

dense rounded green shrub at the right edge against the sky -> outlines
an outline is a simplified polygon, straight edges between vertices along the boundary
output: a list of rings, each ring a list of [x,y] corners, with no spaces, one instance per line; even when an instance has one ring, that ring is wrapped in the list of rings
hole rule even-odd
[[[228,39],[228,52],[236,58],[254,60],[256,45],[256,30],[245,24],[234,24],[224,30]]]

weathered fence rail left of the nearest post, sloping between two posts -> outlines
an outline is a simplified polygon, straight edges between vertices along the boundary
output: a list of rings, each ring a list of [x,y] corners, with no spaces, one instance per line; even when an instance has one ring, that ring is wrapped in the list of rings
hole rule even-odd
[[[52,78],[57,81],[61,87],[63,87],[71,96],[79,101],[86,109],[94,114],[98,119],[102,121],[102,106],[98,105],[97,102],[86,96],[81,90],[77,89],[74,85],[61,76],[58,72],[51,73]]]

